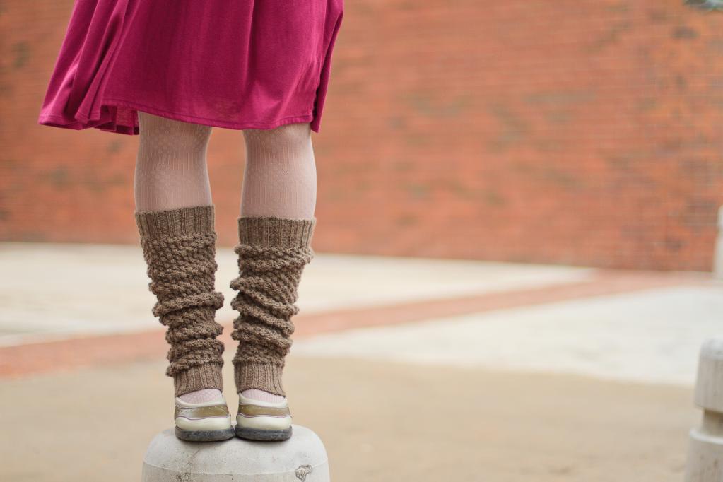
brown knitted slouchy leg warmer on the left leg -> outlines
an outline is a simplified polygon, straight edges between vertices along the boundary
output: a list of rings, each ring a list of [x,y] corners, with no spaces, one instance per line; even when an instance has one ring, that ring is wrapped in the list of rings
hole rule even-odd
[[[150,291],[158,301],[153,314],[168,327],[168,369],[176,397],[216,388],[223,390],[223,332],[215,311],[223,294],[214,291],[214,206],[181,207],[134,213]]]

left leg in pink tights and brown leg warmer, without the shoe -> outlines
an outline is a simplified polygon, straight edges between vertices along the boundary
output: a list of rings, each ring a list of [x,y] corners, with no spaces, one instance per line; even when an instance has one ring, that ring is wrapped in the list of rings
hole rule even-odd
[[[168,326],[168,376],[188,403],[221,395],[221,325],[215,310],[215,231],[206,148],[210,126],[138,113],[136,219],[158,296],[153,313]]]

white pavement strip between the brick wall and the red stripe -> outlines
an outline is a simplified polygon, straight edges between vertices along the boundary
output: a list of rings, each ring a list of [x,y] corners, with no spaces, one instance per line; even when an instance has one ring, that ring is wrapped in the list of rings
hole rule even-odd
[[[237,316],[229,287],[237,257],[217,249],[216,316]],[[596,270],[541,264],[316,254],[299,285],[304,314],[492,293],[586,280]],[[59,336],[163,328],[153,317],[138,245],[0,243],[0,346]]]

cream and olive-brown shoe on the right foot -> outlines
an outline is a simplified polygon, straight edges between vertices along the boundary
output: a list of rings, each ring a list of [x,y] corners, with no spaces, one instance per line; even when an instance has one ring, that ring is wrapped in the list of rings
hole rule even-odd
[[[239,393],[236,435],[248,440],[286,440],[291,437],[288,400],[264,402]]]

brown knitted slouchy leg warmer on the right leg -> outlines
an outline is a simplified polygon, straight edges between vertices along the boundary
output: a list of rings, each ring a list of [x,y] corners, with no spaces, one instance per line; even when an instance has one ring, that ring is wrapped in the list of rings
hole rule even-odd
[[[304,266],[314,257],[311,239],[316,218],[241,216],[238,290],[231,307],[239,311],[231,337],[239,341],[234,356],[236,391],[249,388],[286,395],[281,374],[291,348],[299,307],[299,281]]]

